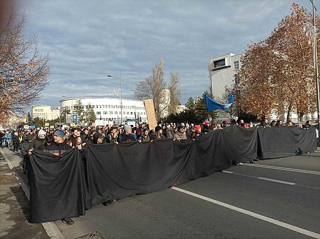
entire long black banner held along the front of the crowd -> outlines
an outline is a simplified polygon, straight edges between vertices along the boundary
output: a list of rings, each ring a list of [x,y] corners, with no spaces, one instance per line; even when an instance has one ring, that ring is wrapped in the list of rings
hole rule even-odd
[[[273,147],[275,135],[285,142],[278,140]],[[234,125],[181,142],[88,144],[85,151],[71,149],[61,156],[35,151],[30,160],[29,220],[47,222],[84,215],[85,210],[107,200],[208,176],[257,155],[309,152],[316,149],[315,141],[314,129]]]

